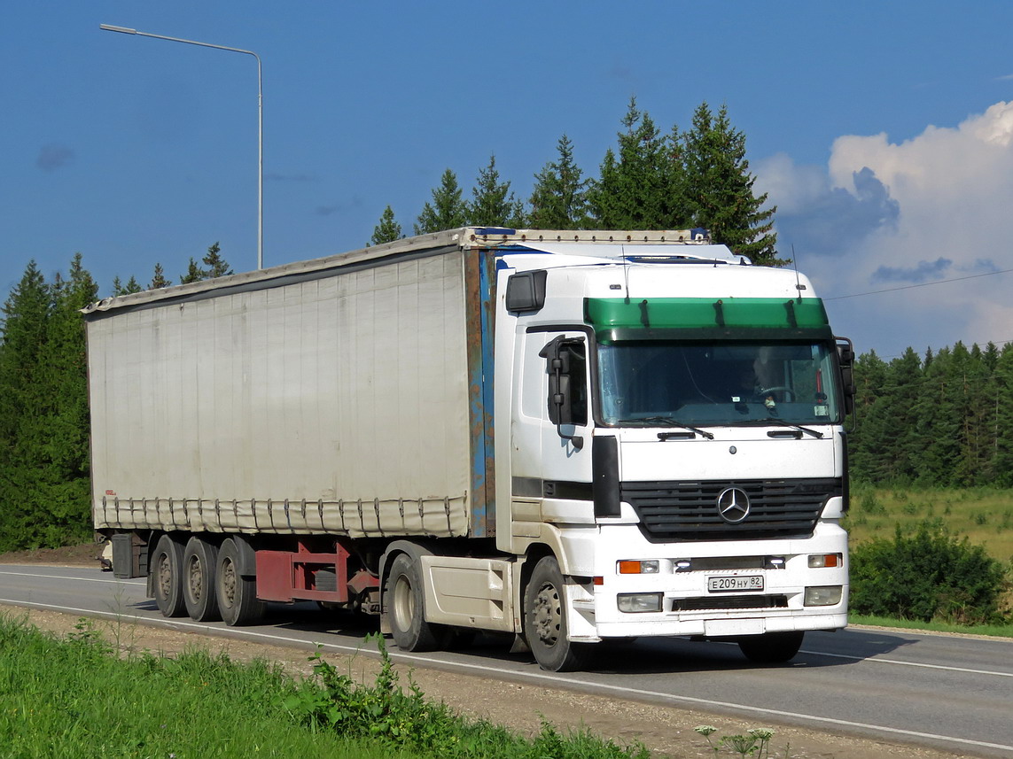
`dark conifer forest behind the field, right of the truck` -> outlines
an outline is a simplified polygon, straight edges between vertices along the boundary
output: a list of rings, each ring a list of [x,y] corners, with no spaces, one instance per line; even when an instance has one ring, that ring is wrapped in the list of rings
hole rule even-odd
[[[1013,343],[961,342],[855,362],[852,477],[873,484],[1013,487]]]

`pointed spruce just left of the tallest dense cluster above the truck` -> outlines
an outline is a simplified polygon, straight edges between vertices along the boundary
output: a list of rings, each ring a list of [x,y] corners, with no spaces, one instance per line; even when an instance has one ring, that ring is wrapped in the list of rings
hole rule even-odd
[[[528,224],[537,230],[588,229],[588,180],[573,160],[573,146],[566,135],[556,144],[558,157],[535,175]]]

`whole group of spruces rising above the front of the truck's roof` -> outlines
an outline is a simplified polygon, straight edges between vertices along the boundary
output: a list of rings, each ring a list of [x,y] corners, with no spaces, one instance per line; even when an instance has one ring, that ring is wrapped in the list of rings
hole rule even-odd
[[[412,225],[416,235],[457,227],[544,230],[679,230],[702,227],[711,238],[762,265],[778,258],[773,231],[776,206],[754,191],[746,158],[746,136],[732,126],[726,106],[717,112],[703,102],[688,130],[663,133],[632,98],[597,176],[581,169],[573,144],[563,135],[556,156],[534,175],[527,201],[511,190],[496,168],[495,154],[478,171],[470,199],[457,175],[446,169]],[[372,245],[403,237],[387,205]]]

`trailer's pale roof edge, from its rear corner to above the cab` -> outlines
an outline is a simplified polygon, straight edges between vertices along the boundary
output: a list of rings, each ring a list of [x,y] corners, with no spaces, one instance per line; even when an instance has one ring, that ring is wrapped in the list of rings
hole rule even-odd
[[[590,255],[601,258],[628,256],[672,257],[675,246],[700,246],[690,252],[681,250],[678,257],[700,260],[727,260],[748,262],[734,256],[723,246],[710,245],[705,230],[513,230],[501,227],[462,227],[460,229],[436,232],[415,237],[407,237],[391,243],[361,248],[347,253],[338,253],[308,261],[272,266],[267,269],[244,271],[238,274],[205,279],[199,282],[177,284],[169,287],[131,292],[115,298],[106,298],[90,304],[81,312],[85,317],[97,317],[104,312],[120,308],[138,307],[158,301],[188,299],[202,293],[211,293],[223,287],[260,289],[270,287],[272,280],[291,280],[314,272],[337,269],[344,266],[396,259],[427,250],[453,249],[461,247],[515,248],[542,251],[546,253],[566,253],[569,255]],[[721,252],[723,251],[723,253]],[[282,282],[279,282],[281,284]],[[205,296],[208,297],[208,296]]]

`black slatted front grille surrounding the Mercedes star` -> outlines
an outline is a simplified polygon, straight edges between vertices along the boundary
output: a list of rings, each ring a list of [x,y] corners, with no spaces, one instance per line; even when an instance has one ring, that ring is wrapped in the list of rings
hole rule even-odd
[[[717,497],[726,488],[738,488],[750,498],[750,513],[737,524],[717,511]],[[620,493],[640,517],[647,539],[741,540],[810,536],[827,499],[842,489],[834,478],[622,483]]]

